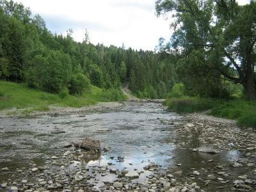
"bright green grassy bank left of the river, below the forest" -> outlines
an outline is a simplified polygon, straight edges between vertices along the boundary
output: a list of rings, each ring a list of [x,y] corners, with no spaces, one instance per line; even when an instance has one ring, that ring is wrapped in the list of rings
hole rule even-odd
[[[30,108],[30,111],[47,111],[49,105],[69,106],[80,108],[96,104],[97,102],[111,102],[125,100],[120,90],[102,90],[92,86],[92,90],[81,96],[65,94],[51,94],[28,88],[26,84],[0,81],[0,110],[10,108]],[[29,111],[28,111],[29,112]]]

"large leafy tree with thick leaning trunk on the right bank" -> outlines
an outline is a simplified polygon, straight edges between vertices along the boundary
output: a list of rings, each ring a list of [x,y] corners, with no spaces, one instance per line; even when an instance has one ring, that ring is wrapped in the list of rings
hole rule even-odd
[[[218,77],[242,84],[248,98],[256,99],[256,2],[239,6],[235,0],[157,0],[156,11],[172,13],[173,47],[186,56],[200,51],[205,75],[219,72]]]

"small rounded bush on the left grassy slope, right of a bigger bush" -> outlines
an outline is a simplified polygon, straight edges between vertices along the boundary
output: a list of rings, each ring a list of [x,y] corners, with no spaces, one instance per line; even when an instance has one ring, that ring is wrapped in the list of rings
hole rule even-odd
[[[85,90],[86,91],[91,90],[90,80],[81,73],[74,75],[70,81],[70,87],[69,87],[70,94],[82,95],[82,93]]]

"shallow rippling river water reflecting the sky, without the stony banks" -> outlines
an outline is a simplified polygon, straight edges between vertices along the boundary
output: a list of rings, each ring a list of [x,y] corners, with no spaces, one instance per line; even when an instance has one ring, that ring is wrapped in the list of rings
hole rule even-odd
[[[86,111],[79,114],[43,115],[33,118],[1,118],[0,119],[0,182],[21,180],[15,172],[26,169],[31,163],[44,166],[51,156],[62,156],[64,148],[71,141],[81,141],[84,137],[100,140],[102,147],[110,147],[108,152],[102,152],[99,158],[74,161],[69,169],[79,169],[81,166],[106,166],[122,170],[143,171],[135,182],[142,182],[151,174],[143,170],[150,162],[172,168],[173,172],[182,171],[177,179],[185,181],[193,169],[209,174],[216,164],[228,164],[240,157],[237,151],[226,151],[220,154],[198,154],[192,148],[199,147],[196,135],[179,135],[175,125],[186,122],[186,119],[175,113],[170,113],[157,103],[125,102],[116,109]],[[100,129],[109,129],[102,132]],[[52,131],[65,131],[61,134],[51,134]],[[184,145],[179,145],[183,143]],[[124,157],[124,161],[120,160]],[[122,159],[122,158],[121,158]],[[213,163],[207,163],[208,160]],[[216,162],[216,163],[214,163]],[[181,165],[181,166],[180,166]],[[1,171],[8,167],[9,172]],[[52,168],[54,169],[54,168]],[[203,171],[202,171],[203,170]],[[212,170],[217,172],[220,170]],[[245,169],[228,170],[231,175],[246,174]],[[29,177],[28,177],[29,179]],[[33,181],[33,178],[30,178]],[[97,175],[95,186],[102,181],[113,181],[115,174]],[[93,180],[92,180],[93,182]],[[228,191],[228,184],[204,186],[209,191]],[[230,184],[232,186],[232,184]],[[218,188],[218,190],[217,190]],[[0,189],[1,191],[1,189]]]

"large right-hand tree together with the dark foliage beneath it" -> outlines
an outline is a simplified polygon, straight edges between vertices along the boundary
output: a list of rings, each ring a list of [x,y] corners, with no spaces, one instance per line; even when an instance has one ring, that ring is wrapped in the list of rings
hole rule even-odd
[[[256,2],[157,0],[157,15],[172,13],[172,40],[182,58],[177,74],[192,95],[228,97],[228,82],[256,99]]]

